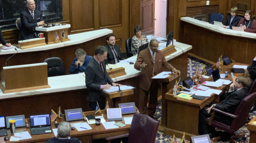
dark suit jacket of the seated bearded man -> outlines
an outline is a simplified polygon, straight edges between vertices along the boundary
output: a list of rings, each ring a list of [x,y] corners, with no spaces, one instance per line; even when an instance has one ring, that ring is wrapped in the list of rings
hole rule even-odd
[[[115,64],[115,57],[114,57],[114,53],[112,52],[112,49],[109,47],[109,44],[106,44],[105,47],[108,48],[108,55],[107,55],[107,59],[105,60],[105,63]],[[115,44],[114,49],[116,50],[116,54],[119,60],[123,60],[120,47],[117,44]]]

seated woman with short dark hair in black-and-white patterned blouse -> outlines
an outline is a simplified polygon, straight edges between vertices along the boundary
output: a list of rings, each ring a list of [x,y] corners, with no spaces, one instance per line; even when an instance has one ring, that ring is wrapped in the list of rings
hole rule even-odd
[[[137,25],[134,27],[134,36],[131,40],[131,51],[135,52],[135,54],[138,54],[139,47],[143,44],[148,43],[148,39],[145,35],[142,35],[142,27],[140,25]],[[135,55],[134,54],[134,55]]]

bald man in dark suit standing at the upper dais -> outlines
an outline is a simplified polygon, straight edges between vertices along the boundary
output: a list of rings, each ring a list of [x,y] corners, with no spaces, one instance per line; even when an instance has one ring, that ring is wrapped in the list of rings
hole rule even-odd
[[[37,37],[35,27],[43,26],[43,16],[38,10],[35,10],[34,0],[27,0],[27,9],[20,13],[21,29],[20,39],[32,39]]]

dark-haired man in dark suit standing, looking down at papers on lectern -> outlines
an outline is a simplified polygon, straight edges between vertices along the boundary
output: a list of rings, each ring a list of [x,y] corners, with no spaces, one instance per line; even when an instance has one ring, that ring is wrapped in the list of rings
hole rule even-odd
[[[104,46],[98,46],[95,50],[95,55],[88,63],[85,69],[85,84],[88,88],[86,100],[89,101],[91,111],[95,111],[97,101],[100,109],[106,106],[106,97],[101,94],[101,90],[108,90],[112,86],[118,86],[109,77],[106,72],[106,64],[104,60],[108,54],[108,49]],[[121,84],[119,84],[122,86]]]

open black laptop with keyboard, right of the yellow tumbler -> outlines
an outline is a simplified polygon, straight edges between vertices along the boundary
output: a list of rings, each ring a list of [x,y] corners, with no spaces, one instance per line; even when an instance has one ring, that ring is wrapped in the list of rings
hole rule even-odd
[[[30,133],[52,133],[50,114],[30,115]]]

